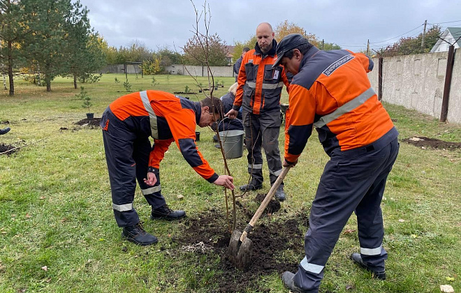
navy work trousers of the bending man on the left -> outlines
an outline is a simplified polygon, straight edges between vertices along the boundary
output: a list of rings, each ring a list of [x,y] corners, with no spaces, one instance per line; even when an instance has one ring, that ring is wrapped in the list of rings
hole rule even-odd
[[[108,163],[112,209],[119,227],[136,225],[139,216],[133,208],[136,179],[147,202],[156,209],[166,204],[160,191],[160,177],[154,187],[147,186],[149,154],[152,150],[149,137],[139,136],[136,131],[115,117],[108,108],[101,117],[105,160]]]

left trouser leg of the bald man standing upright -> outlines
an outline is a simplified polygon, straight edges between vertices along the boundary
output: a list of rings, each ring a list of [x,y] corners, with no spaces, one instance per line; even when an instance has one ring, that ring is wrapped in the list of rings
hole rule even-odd
[[[248,173],[257,181],[263,182],[262,141],[258,118],[249,112],[244,112],[243,125],[245,130],[245,146],[248,151]]]

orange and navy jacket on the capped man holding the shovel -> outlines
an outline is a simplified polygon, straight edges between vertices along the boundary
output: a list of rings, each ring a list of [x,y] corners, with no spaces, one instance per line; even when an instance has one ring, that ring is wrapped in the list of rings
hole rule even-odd
[[[312,47],[290,85],[285,159],[294,163],[316,126],[323,149],[365,147],[393,128],[369,83],[373,61],[349,50]]]

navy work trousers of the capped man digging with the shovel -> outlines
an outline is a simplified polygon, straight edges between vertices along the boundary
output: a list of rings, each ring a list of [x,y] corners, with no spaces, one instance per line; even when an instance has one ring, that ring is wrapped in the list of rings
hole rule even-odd
[[[294,279],[298,287],[317,292],[328,257],[353,211],[357,216],[363,261],[375,271],[384,270],[387,253],[382,246],[380,204],[399,150],[396,136],[397,130],[393,128],[367,147],[332,152],[312,202],[305,234],[305,258]]]

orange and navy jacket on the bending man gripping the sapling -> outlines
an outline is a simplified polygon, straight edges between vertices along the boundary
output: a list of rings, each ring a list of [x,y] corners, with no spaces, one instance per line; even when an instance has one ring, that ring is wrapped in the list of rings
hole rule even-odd
[[[171,142],[200,176],[214,182],[218,174],[203,158],[196,145],[196,125],[200,121],[200,103],[163,91],[141,91],[117,98],[109,105],[115,116],[134,133],[154,138],[149,170],[159,170]]]

